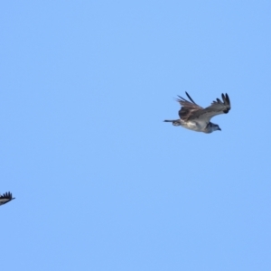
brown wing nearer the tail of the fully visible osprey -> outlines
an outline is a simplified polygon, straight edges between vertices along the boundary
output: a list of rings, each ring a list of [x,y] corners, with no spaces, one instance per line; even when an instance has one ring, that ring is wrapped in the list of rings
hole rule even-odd
[[[203,108],[200,107],[199,105],[197,105],[192,98],[190,97],[190,95],[185,92],[185,94],[187,95],[187,97],[191,100],[187,100],[185,98],[182,98],[181,96],[178,96],[179,98],[176,98],[177,102],[180,103],[180,105],[182,106],[181,109],[179,110],[179,116],[182,120],[188,120],[190,117],[192,117],[196,112],[198,112],[199,110],[201,111]]]

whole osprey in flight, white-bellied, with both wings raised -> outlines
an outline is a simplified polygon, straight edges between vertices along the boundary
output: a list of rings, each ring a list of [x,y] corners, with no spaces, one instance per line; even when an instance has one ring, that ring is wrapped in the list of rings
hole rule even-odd
[[[184,128],[210,134],[213,131],[220,130],[220,126],[211,123],[210,119],[220,114],[227,114],[230,109],[229,96],[226,93],[222,94],[223,102],[217,98],[216,101],[213,101],[210,107],[202,108],[197,105],[190,95],[185,92],[187,97],[191,100],[187,100],[178,96],[176,98],[177,102],[182,106],[179,110],[180,119],[175,120],[164,120],[165,122],[172,122],[173,126],[182,126]]]

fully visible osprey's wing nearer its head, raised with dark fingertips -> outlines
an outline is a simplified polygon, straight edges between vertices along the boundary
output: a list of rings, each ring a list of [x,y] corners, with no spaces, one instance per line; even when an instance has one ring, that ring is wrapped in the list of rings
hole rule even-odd
[[[217,98],[216,101],[211,103],[210,107],[194,111],[189,119],[199,119],[209,123],[211,117],[215,117],[220,114],[227,114],[230,110],[229,96],[227,93],[225,95],[222,93],[221,96],[223,102]]]

